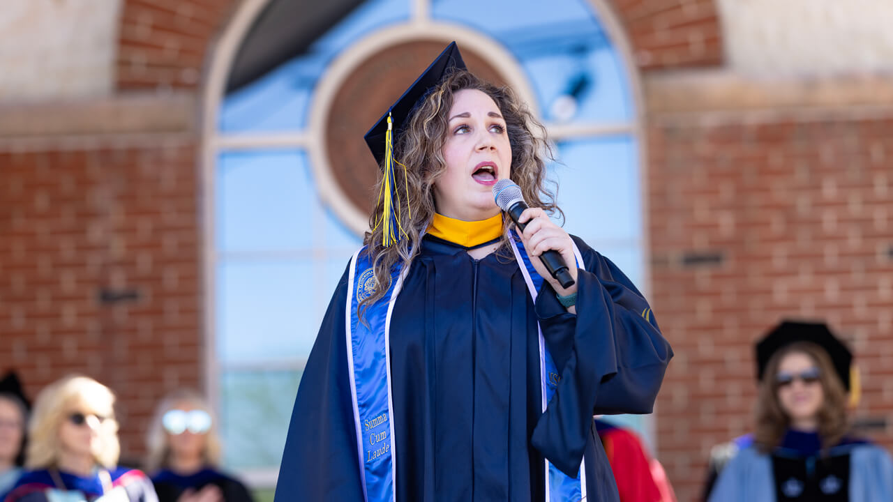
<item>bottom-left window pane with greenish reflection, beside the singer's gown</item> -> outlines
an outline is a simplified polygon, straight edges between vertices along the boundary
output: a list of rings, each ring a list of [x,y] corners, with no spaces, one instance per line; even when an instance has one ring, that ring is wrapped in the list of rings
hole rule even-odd
[[[229,469],[277,469],[301,371],[223,372],[221,433]]]

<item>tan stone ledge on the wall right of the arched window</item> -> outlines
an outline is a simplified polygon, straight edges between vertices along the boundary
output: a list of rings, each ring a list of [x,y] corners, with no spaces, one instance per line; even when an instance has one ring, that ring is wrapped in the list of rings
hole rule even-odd
[[[893,107],[893,75],[747,79],[725,70],[646,74],[647,114]]]

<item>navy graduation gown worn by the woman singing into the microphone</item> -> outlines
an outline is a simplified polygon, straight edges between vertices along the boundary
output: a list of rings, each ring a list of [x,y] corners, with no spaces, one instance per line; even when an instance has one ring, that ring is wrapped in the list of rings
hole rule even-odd
[[[505,253],[475,260],[464,247],[423,238],[391,319],[397,501],[542,501],[544,456],[574,475],[585,457],[588,501],[618,499],[592,415],[650,413],[672,350],[638,289],[574,239],[585,264],[577,315],[547,282],[534,305]],[[277,502],[363,500],[347,374],[348,272],[297,391]],[[561,373],[545,414],[537,322]]]

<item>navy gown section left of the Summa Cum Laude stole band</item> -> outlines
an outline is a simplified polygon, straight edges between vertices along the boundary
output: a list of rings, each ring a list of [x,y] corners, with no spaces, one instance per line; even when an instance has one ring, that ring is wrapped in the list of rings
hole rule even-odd
[[[301,376],[276,502],[363,500],[347,375],[347,277],[345,272],[338,282]]]

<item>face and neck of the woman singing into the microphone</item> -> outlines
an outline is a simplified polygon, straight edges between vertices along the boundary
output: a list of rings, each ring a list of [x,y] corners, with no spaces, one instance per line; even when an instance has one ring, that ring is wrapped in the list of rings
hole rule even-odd
[[[512,146],[493,99],[477,89],[453,96],[441,153],[447,170],[434,183],[438,213],[474,222],[499,213],[492,187],[512,173]]]

